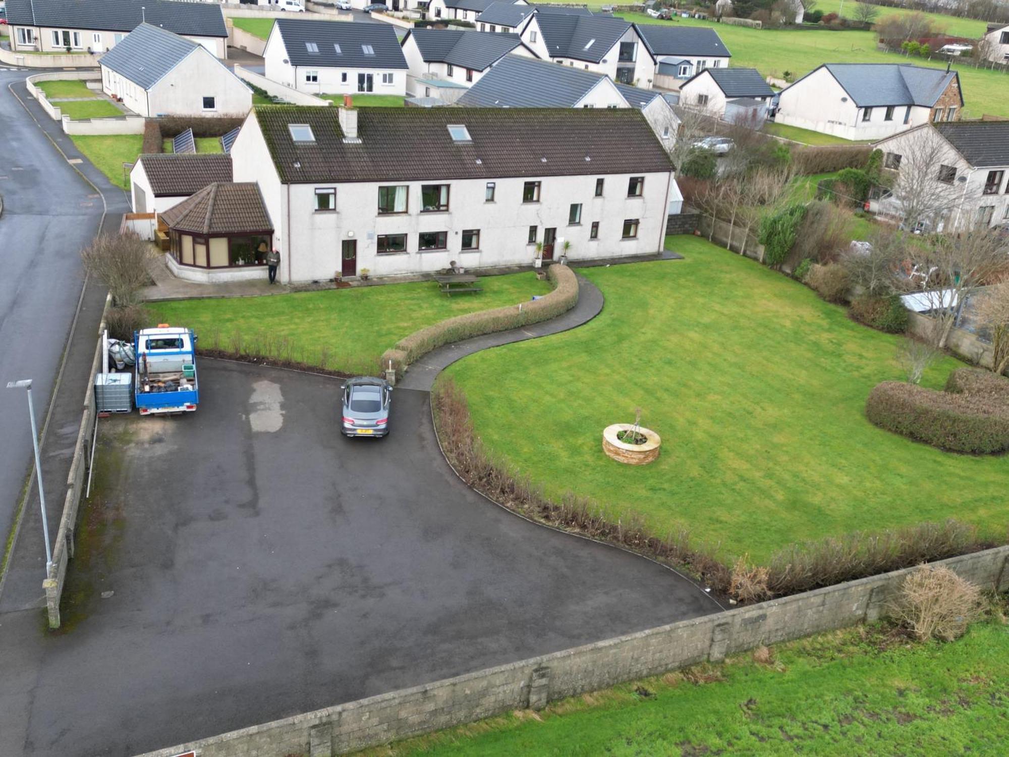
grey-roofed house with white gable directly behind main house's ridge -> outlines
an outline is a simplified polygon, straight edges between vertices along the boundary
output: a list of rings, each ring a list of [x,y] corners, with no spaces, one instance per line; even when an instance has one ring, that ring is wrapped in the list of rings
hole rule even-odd
[[[661,92],[613,82],[603,74],[506,56],[457,101],[477,108],[636,108],[671,150],[680,119]]]

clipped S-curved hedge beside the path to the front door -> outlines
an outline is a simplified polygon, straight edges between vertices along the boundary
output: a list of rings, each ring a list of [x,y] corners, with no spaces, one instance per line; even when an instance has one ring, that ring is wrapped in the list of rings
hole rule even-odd
[[[554,290],[539,300],[455,316],[404,337],[382,353],[382,368],[391,361],[396,372],[402,374],[410,363],[444,344],[547,321],[571,310],[578,302],[574,272],[567,265],[555,264],[547,268],[547,278]]]

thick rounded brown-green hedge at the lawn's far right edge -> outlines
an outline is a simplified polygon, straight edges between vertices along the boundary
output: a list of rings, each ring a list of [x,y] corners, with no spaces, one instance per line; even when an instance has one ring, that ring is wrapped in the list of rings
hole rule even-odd
[[[976,376],[950,375],[950,381],[972,389],[981,383]],[[1009,449],[1009,381],[1002,381],[1006,386],[987,393],[883,382],[869,394],[866,416],[880,428],[949,452],[1004,452]]]

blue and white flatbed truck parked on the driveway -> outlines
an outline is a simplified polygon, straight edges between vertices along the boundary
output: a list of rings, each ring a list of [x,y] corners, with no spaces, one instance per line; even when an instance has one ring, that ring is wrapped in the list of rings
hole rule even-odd
[[[140,415],[192,413],[200,404],[196,334],[160,324],[133,334],[133,400]]]

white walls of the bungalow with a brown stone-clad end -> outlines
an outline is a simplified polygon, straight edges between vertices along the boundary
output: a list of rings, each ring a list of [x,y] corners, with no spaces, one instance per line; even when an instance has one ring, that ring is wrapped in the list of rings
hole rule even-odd
[[[875,140],[928,123],[930,109],[912,106],[911,117],[905,124],[906,108],[906,105],[897,105],[893,120],[887,121],[884,120],[886,107],[875,107],[870,120],[863,121],[862,109],[830,72],[819,69],[782,91],[775,121],[844,139]]]

